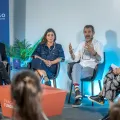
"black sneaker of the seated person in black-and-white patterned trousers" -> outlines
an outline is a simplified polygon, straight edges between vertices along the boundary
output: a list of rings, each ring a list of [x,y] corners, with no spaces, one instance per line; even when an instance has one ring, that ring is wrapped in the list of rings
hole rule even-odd
[[[92,102],[96,102],[100,105],[103,105],[104,104],[104,97],[103,96],[100,96],[100,95],[96,95],[96,96],[89,96],[88,99]]]

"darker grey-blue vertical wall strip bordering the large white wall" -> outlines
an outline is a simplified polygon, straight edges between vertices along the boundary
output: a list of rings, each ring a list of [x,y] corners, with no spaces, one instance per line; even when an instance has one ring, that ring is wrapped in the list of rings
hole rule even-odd
[[[25,39],[26,0],[14,0],[14,37]]]

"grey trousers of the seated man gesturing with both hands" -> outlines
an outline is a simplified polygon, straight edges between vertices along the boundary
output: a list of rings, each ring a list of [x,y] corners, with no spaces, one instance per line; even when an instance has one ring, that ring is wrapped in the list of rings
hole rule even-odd
[[[79,63],[73,65],[72,69],[72,80],[73,84],[78,83],[80,84],[80,79],[92,77],[94,69],[90,67],[82,67]]]

